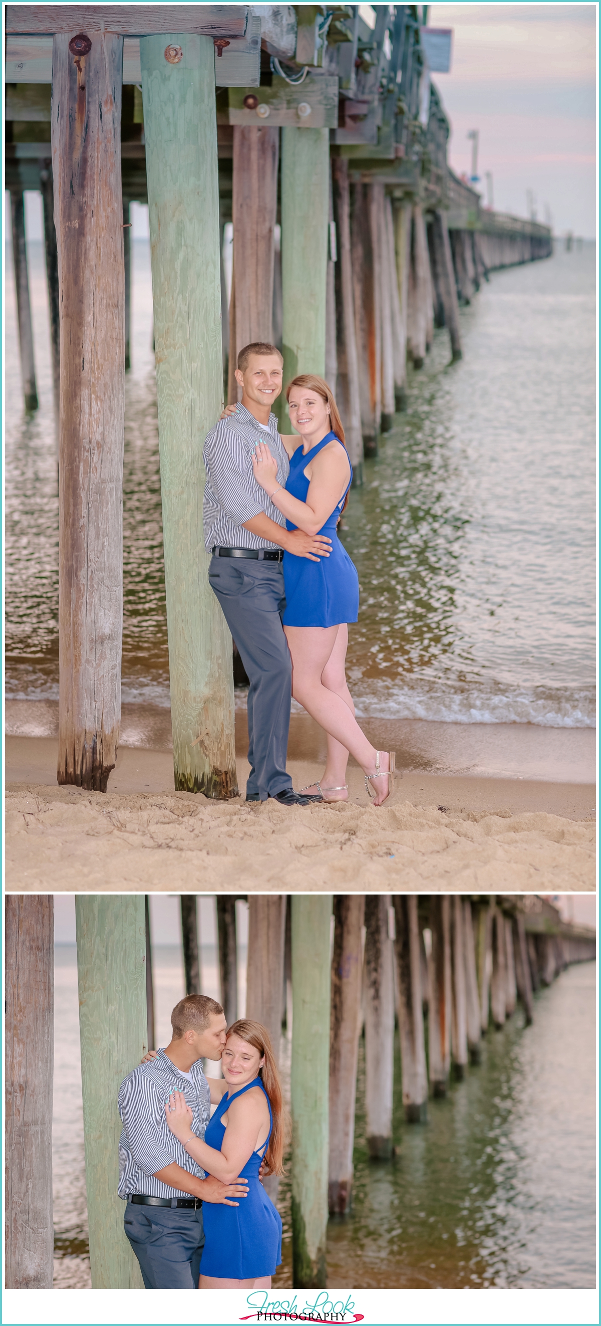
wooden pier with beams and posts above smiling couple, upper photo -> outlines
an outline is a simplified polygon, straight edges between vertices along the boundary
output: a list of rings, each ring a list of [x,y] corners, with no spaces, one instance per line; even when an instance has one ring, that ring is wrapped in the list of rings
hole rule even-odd
[[[236,398],[237,350],[273,335],[285,381],[330,378],[360,484],[434,328],[458,361],[459,306],[487,273],[552,252],[547,227],[487,211],[450,171],[421,17],[379,5],[372,30],[359,5],[269,5],[262,17],[248,5],[7,7],[26,411],[37,386],[23,194],[44,199],[60,782],[105,792],[119,741],[131,202],[150,208],[175,788],[218,798],[237,796],[232,642],[207,579],[201,444]],[[286,410],[282,395],[290,431]]]

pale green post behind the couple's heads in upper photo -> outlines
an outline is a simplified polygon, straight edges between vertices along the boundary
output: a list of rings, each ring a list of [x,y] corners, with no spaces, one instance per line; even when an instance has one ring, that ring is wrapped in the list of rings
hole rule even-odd
[[[282,129],[283,382],[326,371],[330,130]],[[291,424],[282,394],[282,431]]]

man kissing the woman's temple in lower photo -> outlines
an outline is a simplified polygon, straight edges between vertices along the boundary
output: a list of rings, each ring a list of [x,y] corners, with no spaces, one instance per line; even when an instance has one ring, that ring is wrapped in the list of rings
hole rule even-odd
[[[124,1231],[146,1289],[197,1289],[204,1245],[203,1201],[236,1207],[245,1179],[220,1183],[205,1175],[167,1127],[172,1091],[185,1090],[193,1131],[204,1138],[210,1097],[201,1059],[220,1059],[225,1014],[207,994],[187,994],[171,1014],[165,1050],[134,1069],[119,1091],[119,1197],[127,1200]]]

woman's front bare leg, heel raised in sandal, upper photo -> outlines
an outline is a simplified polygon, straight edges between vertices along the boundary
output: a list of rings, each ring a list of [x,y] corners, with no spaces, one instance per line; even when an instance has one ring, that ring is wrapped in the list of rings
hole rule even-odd
[[[285,626],[293,658],[293,695],[328,736],[351,752],[365,773],[376,772],[376,751],[361,732],[346,697],[323,684],[323,674],[336,643],[338,626]],[[335,667],[335,675],[339,675]],[[352,701],[351,701],[352,704]],[[388,754],[380,756],[388,770]],[[344,781],[344,780],[343,780]],[[372,784],[375,805],[388,797],[388,778]]]

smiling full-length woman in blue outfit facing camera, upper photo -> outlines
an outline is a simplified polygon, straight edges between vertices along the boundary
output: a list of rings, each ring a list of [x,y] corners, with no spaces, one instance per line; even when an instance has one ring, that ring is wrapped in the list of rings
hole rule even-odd
[[[355,719],[344,660],[348,622],[356,622],[359,579],[336,526],[352,480],[344,428],[323,378],[302,374],[286,387],[290,420],[298,438],[282,436],[290,456],[286,488],[267,443],[257,444],[257,483],[286,517],[289,529],[327,534],[330,557],[308,561],[283,554],[286,610],[282,618],[293,658],[293,695],[327,732],[327,761],[319,782],[303,788],[315,801],[346,801],[348,753],[361,765],[365,788],[380,806],[391,793],[394,752],[376,751]]]

